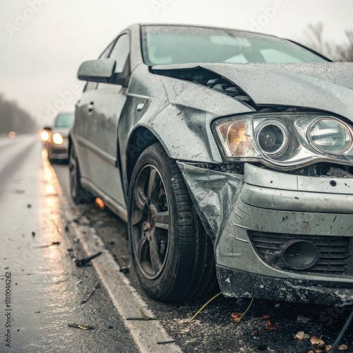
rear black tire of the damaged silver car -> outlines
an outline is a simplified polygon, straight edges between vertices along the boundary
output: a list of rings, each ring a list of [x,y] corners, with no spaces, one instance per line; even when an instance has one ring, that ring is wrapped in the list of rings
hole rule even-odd
[[[95,200],[94,196],[81,185],[80,167],[78,166],[78,159],[73,146],[70,149],[70,155],[68,157],[68,171],[70,173],[70,195],[73,202],[77,205],[92,203]]]

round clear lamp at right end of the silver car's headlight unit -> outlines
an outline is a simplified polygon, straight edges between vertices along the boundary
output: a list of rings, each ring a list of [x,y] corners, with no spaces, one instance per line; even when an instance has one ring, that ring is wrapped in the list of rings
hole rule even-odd
[[[319,151],[341,155],[352,149],[352,128],[333,118],[319,118],[308,130],[308,138]]]

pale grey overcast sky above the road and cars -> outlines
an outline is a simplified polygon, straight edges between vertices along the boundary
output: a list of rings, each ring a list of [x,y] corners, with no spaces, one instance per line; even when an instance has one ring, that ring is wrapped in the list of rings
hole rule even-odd
[[[83,87],[76,79],[80,63],[97,58],[131,23],[219,25],[306,42],[309,23],[322,22],[325,39],[337,44],[353,30],[352,0],[1,0],[0,6],[0,92],[41,123],[51,117],[49,107],[73,109]]]

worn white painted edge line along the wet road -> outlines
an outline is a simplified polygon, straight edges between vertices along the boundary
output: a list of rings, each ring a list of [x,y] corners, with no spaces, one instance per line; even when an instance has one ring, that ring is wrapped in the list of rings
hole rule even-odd
[[[52,166],[44,158],[44,168]],[[55,172],[54,172],[55,174]],[[56,174],[55,174],[56,175]],[[66,220],[73,220],[73,215],[69,211],[71,209],[66,196],[61,190],[59,181],[56,186],[57,192],[61,197],[61,205],[64,210]],[[107,289],[109,297],[112,299],[116,310],[120,313],[124,320],[126,328],[131,333],[133,340],[140,349],[141,353],[181,353],[181,349],[175,343],[168,345],[158,345],[157,342],[172,341],[167,332],[158,321],[127,321],[126,318],[138,318],[141,316],[140,309],[143,309],[145,315],[154,318],[155,313],[148,309],[148,305],[140,297],[136,289],[132,287],[128,278],[121,273],[119,265],[107,249],[104,248],[102,239],[95,233],[95,229],[85,225],[77,225],[71,222],[68,225],[70,232],[80,239],[83,249],[88,255],[101,251],[102,255],[92,260],[92,265],[97,271],[102,284]]]

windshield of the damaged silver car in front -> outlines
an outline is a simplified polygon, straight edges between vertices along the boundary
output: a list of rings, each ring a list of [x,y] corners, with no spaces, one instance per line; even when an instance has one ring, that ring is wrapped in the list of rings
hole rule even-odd
[[[325,62],[298,44],[269,35],[218,28],[144,26],[146,64]]]

